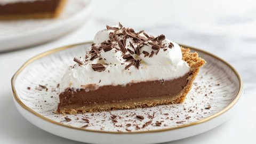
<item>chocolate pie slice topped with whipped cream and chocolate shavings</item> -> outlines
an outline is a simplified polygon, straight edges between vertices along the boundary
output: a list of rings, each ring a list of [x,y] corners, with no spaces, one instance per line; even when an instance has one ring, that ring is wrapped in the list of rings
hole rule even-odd
[[[99,31],[60,83],[58,113],[180,103],[205,61],[164,35],[118,26]]]

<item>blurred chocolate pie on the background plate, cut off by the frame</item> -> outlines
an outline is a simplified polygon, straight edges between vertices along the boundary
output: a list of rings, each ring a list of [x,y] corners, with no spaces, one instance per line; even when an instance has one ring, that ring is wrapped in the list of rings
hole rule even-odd
[[[66,0],[0,0],[0,20],[55,18]]]

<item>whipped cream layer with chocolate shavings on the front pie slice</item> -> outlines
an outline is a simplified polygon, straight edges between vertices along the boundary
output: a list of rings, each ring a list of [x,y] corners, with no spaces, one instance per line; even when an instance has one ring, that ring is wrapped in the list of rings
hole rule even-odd
[[[150,36],[118,26],[100,30],[85,58],[75,58],[61,79],[60,92],[71,87],[126,85],[172,80],[189,72],[180,46],[164,35]]]

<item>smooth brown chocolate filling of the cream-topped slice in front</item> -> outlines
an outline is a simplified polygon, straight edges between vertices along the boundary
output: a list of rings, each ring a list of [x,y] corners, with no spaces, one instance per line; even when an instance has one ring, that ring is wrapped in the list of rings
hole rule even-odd
[[[58,111],[65,107],[97,105],[106,102],[123,102],[142,98],[175,97],[188,83],[189,73],[169,81],[157,80],[123,85],[105,85],[92,89],[66,89],[60,93]]]

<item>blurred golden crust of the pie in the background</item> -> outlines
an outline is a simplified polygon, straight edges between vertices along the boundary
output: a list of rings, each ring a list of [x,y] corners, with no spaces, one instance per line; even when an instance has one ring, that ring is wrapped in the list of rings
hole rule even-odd
[[[50,19],[59,17],[67,0],[61,0],[54,12],[38,12],[28,14],[0,15],[0,20],[21,20],[21,19]]]

